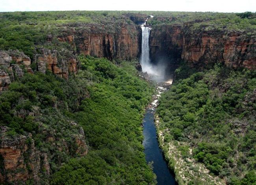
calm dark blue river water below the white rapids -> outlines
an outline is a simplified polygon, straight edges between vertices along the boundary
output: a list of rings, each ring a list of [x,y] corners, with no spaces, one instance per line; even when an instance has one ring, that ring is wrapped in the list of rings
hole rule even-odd
[[[170,172],[158,146],[156,128],[154,124],[154,111],[148,109],[143,119],[143,146],[147,162],[153,161],[153,171],[156,174],[158,185],[177,185],[174,175]]]

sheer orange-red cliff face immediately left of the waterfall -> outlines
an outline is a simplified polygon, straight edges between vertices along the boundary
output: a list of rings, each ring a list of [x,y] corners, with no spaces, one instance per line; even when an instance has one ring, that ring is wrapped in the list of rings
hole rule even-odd
[[[140,34],[134,24],[122,23],[115,28],[103,24],[68,25],[61,30],[58,40],[69,43],[79,54],[109,60],[131,60],[139,55]]]

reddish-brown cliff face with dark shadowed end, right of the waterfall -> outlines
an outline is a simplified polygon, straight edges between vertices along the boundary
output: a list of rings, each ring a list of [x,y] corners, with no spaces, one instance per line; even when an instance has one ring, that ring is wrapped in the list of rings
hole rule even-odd
[[[161,53],[192,64],[222,62],[228,67],[256,68],[256,39],[239,31],[197,32],[180,25],[153,27],[150,54],[154,59]]]

